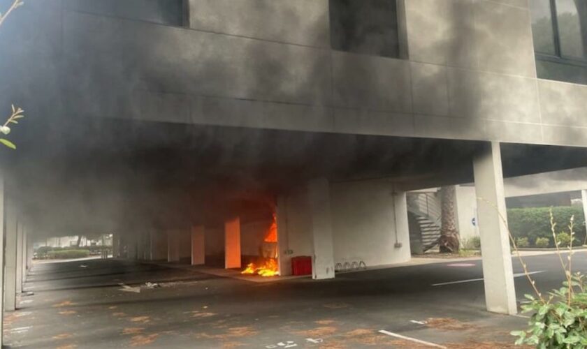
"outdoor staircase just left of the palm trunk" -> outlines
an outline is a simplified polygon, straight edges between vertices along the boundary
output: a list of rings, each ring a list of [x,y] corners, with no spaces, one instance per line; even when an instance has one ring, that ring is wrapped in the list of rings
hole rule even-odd
[[[441,204],[437,193],[408,193],[407,212],[412,253],[423,253],[436,246],[441,228]]]

